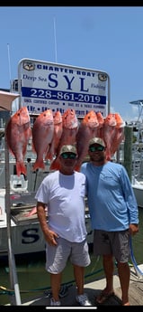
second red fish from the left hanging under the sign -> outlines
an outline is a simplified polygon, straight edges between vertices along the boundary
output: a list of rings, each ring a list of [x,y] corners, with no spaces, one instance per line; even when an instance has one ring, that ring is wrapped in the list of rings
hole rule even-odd
[[[44,159],[49,152],[49,147],[54,136],[54,119],[51,109],[40,113],[32,128],[32,150],[37,158],[33,170],[44,169]]]

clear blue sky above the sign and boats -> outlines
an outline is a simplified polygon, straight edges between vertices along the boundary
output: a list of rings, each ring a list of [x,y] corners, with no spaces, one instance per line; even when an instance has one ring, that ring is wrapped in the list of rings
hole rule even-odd
[[[143,99],[143,6],[0,6],[0,90],[23,58],[105,71],[110,110],[137,120]]]

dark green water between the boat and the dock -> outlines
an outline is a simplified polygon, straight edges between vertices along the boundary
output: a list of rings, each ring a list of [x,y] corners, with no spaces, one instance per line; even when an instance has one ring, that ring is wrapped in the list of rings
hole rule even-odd
[[[132,237],[132,249],[137,264],[143,263],[143,209],[139,208],[139,233]],[[91,249],[91,264],[85,268],[85,283],[103,277],[102,259],[95,259]],[[130,260],[131,263],[131,260]],[[42,296],[49,291],[49,273],[45,270],[45,252],[32,255],[16,256],[15,264],[17,269],[17,279],[21,292],[21,299]],[[73,268],[70,262],[63,272],[63,283],[75,283]],[[8,260],[0,257],[0,305],[11,302],[10,294],[7,288],[10,287]]]

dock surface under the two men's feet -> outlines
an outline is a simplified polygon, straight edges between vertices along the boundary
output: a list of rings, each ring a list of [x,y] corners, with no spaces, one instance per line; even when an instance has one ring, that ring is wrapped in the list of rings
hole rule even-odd
[[[138,266],[139,271],[143,272],[143,264]],[[113,276],[113,286],[114,286],[114,295],[111,298],[108,298],[103,304],[97,304],[95,298],[100,294],[101,290],[105,288],[105,279],[97,279],[92,280],[88,283],[85,283],[85,293],[88,295],[92,303],[92,307],[80,307],[79,304],[76,302],[76,285],[69,284],[67,286],[67,291],[65,291],[65,295],[60,298],[61,306],[60,307],[50,307],[50,296],[47,293],[41,294],[39,298],[29,298],[25,302],[22,302],[22,306],[29,306],[36,308],[35,306],[42,308],[45,311],[46,309],[64,309],[68,307],[68,309],[76,308],[94,308],[100,310],[103,306],[117,306],[116,308],[120,308],[121,306],[121,285],[120,280],[118,277],[117,269]],[[137,269],[132,266],[130,268],[130,307],[133,306],[143,306],[143,274],[138,274]],[[9,305],[6,305],[9,306]],[[5,307],[5,306],[4,306]],[[15,307],[14,307],[15,308]],[[129,308],[129,307],[128,307]],[[139,308],[139,307],[138,307]]]

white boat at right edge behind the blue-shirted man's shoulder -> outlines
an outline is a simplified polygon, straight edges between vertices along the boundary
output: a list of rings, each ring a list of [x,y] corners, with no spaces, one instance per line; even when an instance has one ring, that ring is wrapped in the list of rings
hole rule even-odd
[[[125,166],[138,206],[143,208],[143,99],[130,103],[139,106],[139,117],[136,121],[126,122],[125,139],[112,161]]]

